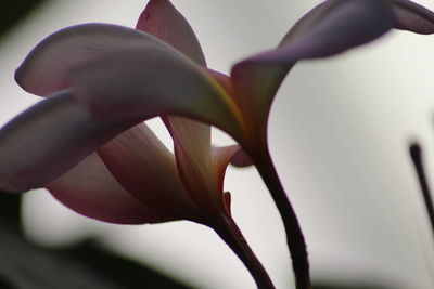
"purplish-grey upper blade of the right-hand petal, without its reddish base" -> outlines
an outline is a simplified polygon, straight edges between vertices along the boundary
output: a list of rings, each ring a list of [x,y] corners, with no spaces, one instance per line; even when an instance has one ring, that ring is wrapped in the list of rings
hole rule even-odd
[[[298,21],[279,49],[254,56],[257,62],[296,62],[331,56],[387,32],[395,16],[382,0],[329,0]]]

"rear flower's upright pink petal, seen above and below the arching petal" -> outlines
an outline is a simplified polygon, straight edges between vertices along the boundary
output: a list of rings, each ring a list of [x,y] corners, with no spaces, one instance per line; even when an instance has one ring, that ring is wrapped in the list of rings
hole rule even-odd
[[[152,0],[141,14],[137,29],[151,34],[206,66],[201,45],[187,19],[167,0]],[[180,117],[165,116],[164,123],[174,139],[181,180],[197,206],[208,214],[221,209],[212,163],[210,126]]]

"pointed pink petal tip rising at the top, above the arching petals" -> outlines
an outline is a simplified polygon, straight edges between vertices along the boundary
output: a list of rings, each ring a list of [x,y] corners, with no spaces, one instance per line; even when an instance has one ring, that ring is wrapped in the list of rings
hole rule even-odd
[[[151,0],[140,15],[136,28],[165,41],[196,64],[206,66],[193,29],[170,1]]]

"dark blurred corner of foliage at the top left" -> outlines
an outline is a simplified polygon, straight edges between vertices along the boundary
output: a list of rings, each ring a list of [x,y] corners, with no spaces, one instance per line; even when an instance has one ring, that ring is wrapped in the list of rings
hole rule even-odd
[[[42,2],[44,0],[14,0],[3,3],[0,9],[0,37]]]

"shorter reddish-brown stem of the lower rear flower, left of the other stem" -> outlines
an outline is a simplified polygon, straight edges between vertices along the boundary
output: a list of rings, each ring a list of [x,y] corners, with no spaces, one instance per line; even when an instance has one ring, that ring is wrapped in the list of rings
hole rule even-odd
[[[213,226],[221,239],[232,249],[247,267],[256,281],[258,289],[275,289],[270,277],[244,239],[240,228],[230,216],[224,216],[217,225]]]

